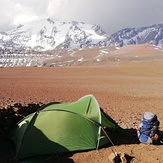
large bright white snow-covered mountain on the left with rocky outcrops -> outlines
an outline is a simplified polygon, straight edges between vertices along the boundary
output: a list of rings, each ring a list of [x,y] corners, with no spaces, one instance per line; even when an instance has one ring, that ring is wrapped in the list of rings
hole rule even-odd
[[[0,47],[9,51],[46,51],[57,47],[74,49],[100,46],[100,41],[106,39],[104,34],[98,25],[45,19],[1,32]]]

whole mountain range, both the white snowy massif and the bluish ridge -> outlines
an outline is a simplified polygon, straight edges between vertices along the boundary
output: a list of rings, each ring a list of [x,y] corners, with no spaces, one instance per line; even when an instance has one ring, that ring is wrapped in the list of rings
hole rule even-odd
[[[128,44],[163,45],[163,24],[142,28],[125,28],[107,36],[98,25],[83,22],[60,22],[44,19],[16,29],[0,32],[0,53],[29,53],[56,48],[80,49]]]

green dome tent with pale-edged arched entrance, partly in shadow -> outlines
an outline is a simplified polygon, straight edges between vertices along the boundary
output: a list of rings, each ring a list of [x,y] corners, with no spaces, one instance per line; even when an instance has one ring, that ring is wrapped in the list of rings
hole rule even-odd
[[[86,95],[76,102],[43,106],[18,123],[11,140],[17,159],[98,149],[109,143],[102,127],[121,130],[95,97]]]

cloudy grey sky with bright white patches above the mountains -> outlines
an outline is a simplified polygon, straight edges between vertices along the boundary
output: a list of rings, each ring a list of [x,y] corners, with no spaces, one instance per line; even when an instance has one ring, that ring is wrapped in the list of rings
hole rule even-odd
[[[97,24],[112,34],[163,23],[163,0],[0,0],[0,31],[45,18]]]

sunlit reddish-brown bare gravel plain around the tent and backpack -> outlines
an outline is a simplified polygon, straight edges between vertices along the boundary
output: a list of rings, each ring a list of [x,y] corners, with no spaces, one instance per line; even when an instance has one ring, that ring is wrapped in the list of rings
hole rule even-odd
[[[122,128],[134,128],[140,123],[142,114],[151,111],[157,114],[162,131],[163,52],[157,59],[154,56],[157,53],[148,52],[153,55],[146,59],[148,54],[145,48],[143,50],[139,48],[135,52],[136,59],[141,51],[144,54],[140,60],[124,57],[123,61],[91,66],[1,68],[0,106],[16,102],[67,103],[92,94],[100,107]],[[107,163],[112,148],[77,152],[55,162]],[[134,163],[163,162],[162,145],[120,144],[116,145],[116,150],[134,156]]]

